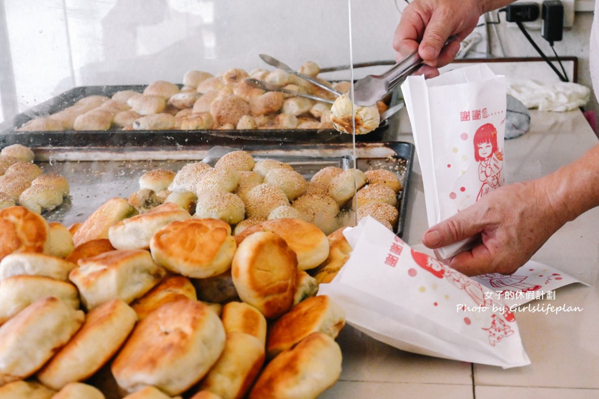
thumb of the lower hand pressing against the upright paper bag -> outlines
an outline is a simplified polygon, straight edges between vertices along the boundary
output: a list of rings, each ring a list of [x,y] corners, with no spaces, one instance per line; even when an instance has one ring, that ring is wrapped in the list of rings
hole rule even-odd
[[[474,215],[474,211],[464,209],[426,230],[422,236],[422,243],[428,248],[441,248],[474,236],[482,231],[482,226],[476,223],[476,220],[478,218]]]

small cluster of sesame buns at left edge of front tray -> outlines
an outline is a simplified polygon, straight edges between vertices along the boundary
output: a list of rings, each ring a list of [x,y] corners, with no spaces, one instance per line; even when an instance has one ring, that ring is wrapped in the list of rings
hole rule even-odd
[[[43,174],[31,149],[13,144],[0,151],[0,209],[16,204],[38,214],[59,206],[69,194],[63,176]]]

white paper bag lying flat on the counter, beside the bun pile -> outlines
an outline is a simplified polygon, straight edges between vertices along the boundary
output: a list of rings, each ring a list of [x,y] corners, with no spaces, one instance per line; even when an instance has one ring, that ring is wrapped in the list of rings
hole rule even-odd
[[[344,234],[352,254],[319,294],[339,303],[350,325],[419,354],[501,367],[530,363],[515,316],[478,282],[413,251],[373,218]]]

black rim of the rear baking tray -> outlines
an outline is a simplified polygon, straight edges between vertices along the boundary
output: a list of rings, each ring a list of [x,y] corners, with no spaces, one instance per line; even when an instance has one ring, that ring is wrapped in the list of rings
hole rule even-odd
[[[180,85],[181,86],[181,85]],[[146,85],[133,86],[81,86],[74,87],[22,114],[16,115],[13,126],[0,135],[0,145],[23,144],[28,147],[127,147],[152,143],[165,145],[217,145],[220,139],[232,139],[241,144],[253,141],[277,141],[296,144],[350,143],[352,135],[334,129],[256,129],[256,130],[63,130],[60,132],[17,132],[15,129],[39,116],[55,114],[73,105],[77,100],[91,95],[111,97],[120,90],[142,93]],[[381,141],[389,121],[384,121],[376,130],[356,136],[356,141]]]

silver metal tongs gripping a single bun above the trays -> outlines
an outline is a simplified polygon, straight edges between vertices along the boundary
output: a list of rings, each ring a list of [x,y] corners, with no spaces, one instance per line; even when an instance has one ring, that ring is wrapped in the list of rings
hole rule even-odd
[[[455,40],[457,36],[450,36],[445,45]],[[422,58],[418,49],[405,57],[400,62],[383,72],[381,75],[368,75],[353,84],[353,101],[358,105],[373,105],[382,99],[395,86],[403,83],[409,75],[418,71],[422,66]]]

